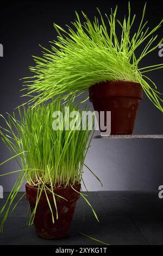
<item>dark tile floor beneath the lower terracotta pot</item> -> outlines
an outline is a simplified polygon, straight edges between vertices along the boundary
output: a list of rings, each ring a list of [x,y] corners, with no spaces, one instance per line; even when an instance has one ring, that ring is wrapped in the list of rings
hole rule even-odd
[[[34,227],[26,226],[28,204],[24,198],[5,223],[0,245],[99,244],[79,232],[111,245],[163,245],[163,199],[158,198],[158,192],[99,191],[88,195],[99,223],[90,207],[80,198],[70,235],[61,240],[43,240],[36,236]],[[0,199],[0,208],[5,198]]]

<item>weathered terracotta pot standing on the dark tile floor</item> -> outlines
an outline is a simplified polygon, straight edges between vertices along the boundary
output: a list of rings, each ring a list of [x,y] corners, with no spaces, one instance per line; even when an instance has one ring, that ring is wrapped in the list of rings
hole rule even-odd
[[[75,190],[80,192],[81,185],[74,187]],[[38,236],[45,239],[60,239],[68,234],[71,221],[73,218],[76,202],[80,194],[73,190],[71,187],[55,188],[54,193],[66,200],[55,196],[58,209],[58,220],[56,220],[56,210],[54,206],[52,193],[46,189],[46,193],[51,202],[55,222],[52,222],[52,214],[47,203],[45,191],[42,191],[39,204],[37,205],[34,225]],[[35,208],[37,198],[37,187],[26,184],[26,196],[30,204],[31,212]]]

